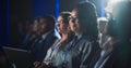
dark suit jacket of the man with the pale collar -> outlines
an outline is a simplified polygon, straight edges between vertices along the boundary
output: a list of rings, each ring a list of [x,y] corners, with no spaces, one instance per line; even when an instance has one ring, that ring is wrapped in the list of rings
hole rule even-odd
[[[33,62],[37,60],[41,63],[46,56],[47,50],[52,45],[56,39],[55,31],[49,32],[45,39],[39,39],[31,51]]]

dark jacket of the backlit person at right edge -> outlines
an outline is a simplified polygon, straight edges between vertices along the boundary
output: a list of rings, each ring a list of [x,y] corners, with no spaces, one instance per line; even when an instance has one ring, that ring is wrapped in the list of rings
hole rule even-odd
[[[109,58],[102,68],[131,68],[131,42],[119,41],[115,43]]]

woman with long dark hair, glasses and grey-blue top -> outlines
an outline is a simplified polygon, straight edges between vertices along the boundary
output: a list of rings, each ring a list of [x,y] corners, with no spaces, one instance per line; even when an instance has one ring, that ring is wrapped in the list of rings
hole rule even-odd
[[[92,68],[99,56],[95,6],[91,2],[79,3],[72,10],[69,24],[75,36],[63,54],[69,65],[66,68]]]

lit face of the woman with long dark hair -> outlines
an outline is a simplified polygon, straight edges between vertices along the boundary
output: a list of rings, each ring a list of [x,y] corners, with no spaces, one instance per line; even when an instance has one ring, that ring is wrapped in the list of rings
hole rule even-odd
[[[70,21],[69,21],[70,29],[73,32],[76,32],[79,27],[79,19],[78,19],[78,10],[73,10],[71,12]]]

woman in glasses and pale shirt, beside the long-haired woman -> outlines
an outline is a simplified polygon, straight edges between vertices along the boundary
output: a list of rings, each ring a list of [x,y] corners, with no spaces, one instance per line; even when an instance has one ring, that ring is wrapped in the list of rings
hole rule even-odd
[[[47,55],[39,68],[61,68],[63,58],[59,56],[59,53],[64,50],[66,45],[72,39],[73,33],[69,29],[69,19],[70,13],[61,12],[58,21],[56,23],[58,31],[61,35],[61,39],[58,39],[52,46],[48,50]],[[59,57],[59,58],[58,58]],[[37,67],[37,66],[36,66]]]

